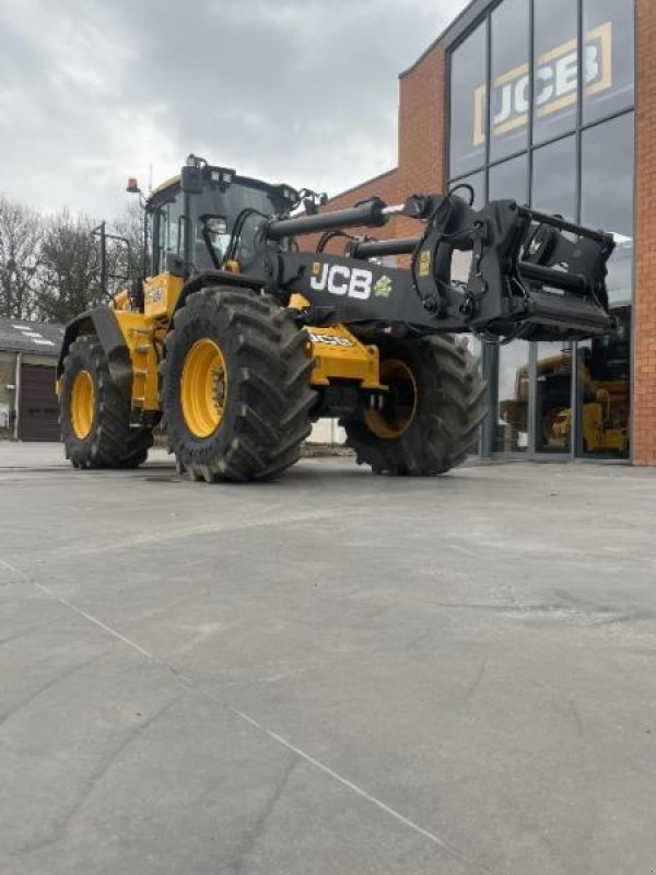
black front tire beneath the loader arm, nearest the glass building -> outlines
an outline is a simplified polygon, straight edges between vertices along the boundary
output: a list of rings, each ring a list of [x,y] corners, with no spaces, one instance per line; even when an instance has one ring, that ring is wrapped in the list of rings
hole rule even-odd
[[[400,361],[411,372],[414,409],[398,436],[382,438],[366,420],[342,420],[347,444],[374,474],[426,477],[459,465],[477,445],[485,416],[485,384],[477,360],[448,335],[380,345],[382,368]]]

